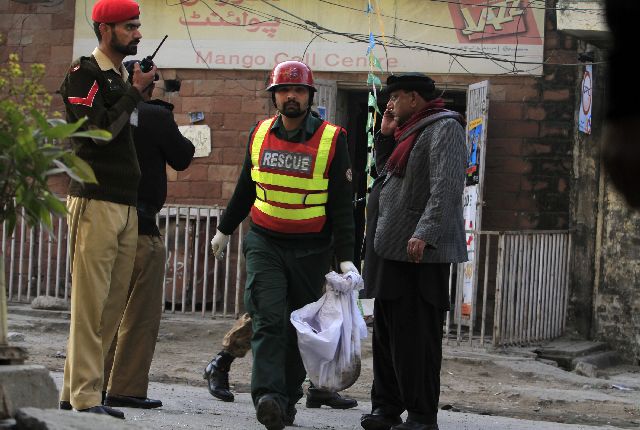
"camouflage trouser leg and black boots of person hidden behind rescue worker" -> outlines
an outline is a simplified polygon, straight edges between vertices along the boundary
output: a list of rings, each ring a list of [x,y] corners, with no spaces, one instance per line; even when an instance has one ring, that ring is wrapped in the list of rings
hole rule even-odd
[[[207,380],[209,393],[224,402],[233,402],[233,393],[229,390],[229,370],[236,358],[244,357],[251,349],[251,317],[242,314],[222,339],[222,350],[207,364],[203,378]],[[320,408],[322,405],[333,409],[350,409],[358,406],[354,399],[340,394],[316,388],[311,384],[307,391],[307,408]]]

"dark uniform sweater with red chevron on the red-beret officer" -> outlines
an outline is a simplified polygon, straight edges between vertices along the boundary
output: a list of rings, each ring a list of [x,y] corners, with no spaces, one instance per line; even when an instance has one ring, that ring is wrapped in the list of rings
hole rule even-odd
[[[71,181],[69,195],[135,206],[140,168],[129,123],[131,113],[142,100],[127,83],[124,67],[95,49],[91,57],[74,61],[60,88],[67,120],[88,117],[84,129],[103,129],[112,134],[108,142],[73,138],[76,155],[93,169],[97,184]]]

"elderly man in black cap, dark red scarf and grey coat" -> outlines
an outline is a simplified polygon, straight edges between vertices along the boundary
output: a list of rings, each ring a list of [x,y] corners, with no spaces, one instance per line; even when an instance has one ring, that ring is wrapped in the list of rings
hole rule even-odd
[[[375,138],[364,277],[374,297],[372,412],[366,430],[438,428],[442,325],[451,263],[467,260],[464,120],[423,74],[390,76]],[[408,412],[406,422],[400,415]]]

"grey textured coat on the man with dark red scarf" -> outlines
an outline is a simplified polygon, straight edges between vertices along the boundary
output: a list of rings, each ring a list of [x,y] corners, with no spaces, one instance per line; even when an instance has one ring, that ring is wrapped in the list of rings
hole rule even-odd
[[[403,177],[386,177],[380,193],[374,247],[380,257],[409,261],[412,237],[427,243],[422,263],[467,261],[462,191],[467,147],[464,129],[452,118],[427,125],[417,138]],[[376,169],[395,147],[393,137],[377,136]]]

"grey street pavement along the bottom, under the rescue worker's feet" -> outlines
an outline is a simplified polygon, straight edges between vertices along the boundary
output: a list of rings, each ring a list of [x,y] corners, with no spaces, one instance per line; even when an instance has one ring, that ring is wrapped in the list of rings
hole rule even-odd
[[[51,373],[58,388],[62,373]],[[205,387],[188,384],[164,384],[152,382],[149,396],[161,399],[163,407],[141,410],[121,408],[126,422],[153,429],[220,429],[220,430],[264,430],[255,418],[251,396],[237,393],[236,400],[226,403],[211,397]],[[360,402],[358,407],[347,410],[330,408],[307,409],[304,398],[297,405],[295,425],[287,427],[298,430],[359,430],[360,416],[371,409],[369,402]],[[73,413],[73,412],[69,412]],[[559,424],[546,421],[518,420],[487,415],[440,411],[438,422],[441,430],[592,430],[618,429],[611,426],[585,426]],[[120,420],[113,419],[117,429]]]

